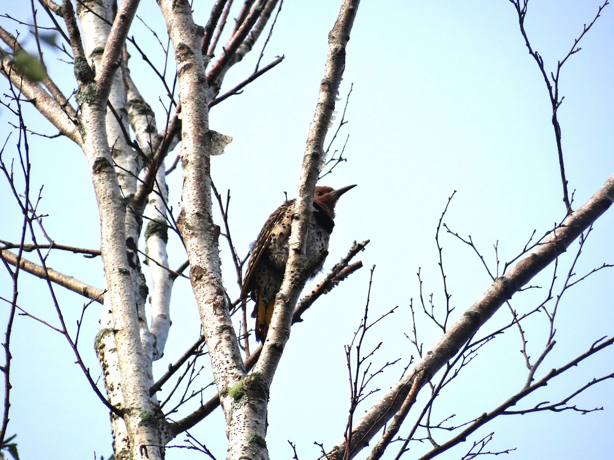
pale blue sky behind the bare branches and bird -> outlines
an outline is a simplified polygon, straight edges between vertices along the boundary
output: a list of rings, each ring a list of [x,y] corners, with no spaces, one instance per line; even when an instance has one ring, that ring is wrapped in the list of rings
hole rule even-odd
[[[206,22],[210,3],[195,5],[196,21],[201,24]],[[308,124],[324,69],[327,34],[338,6],[339,2],[284,2],[263,64],[282,54],[286,55],[284,62],[247,86],[243,94],[211,111],[211,128],[234,137],[225,154],[212,159],[212,175],[219,191],[231,189],[230,222],[239,253],[246,253],[268,214],[284,199],[284,191],[289,196],[295,194]],[[548,71],[554,70],[556,61],[569,51],[598,6],[598,1],[570,0],[534,0],[529,5],[527,33]],[[17,7],[12,4],[8,8],[14,12]],[[152,27],[162,24],[153,2],[144,2],[139,15],[147,18]],[[28,15],[23,13],[21,17]],[[6,18],[1,18],[0,23],[14,28]],[[565,101],[559,120],[567,178],[570,191],[575,190],[574,208],[614,172],[613,29],[614,7],[608,6],[582,40],[581,52],[569,59],[561,75]],[[142,27],[138,22],[133,34],[154,57],[158,52],[155,43],[149,35],[140,35]],[[255,52],[261,47],[259,42]],[[161,85],[143,66],[138,53],[132,55],[132,75],[161,126],[164,112],[157,102],[163,95]],[[246,63],[233,68],[225,89],[243,80],[256,58],[257,54],[252,55]],[[52,77],[70,93],[70,67],[63,63],[50,67]],[[306,459],[317,457],[314,441],[330,448],[341,439],[349,404],[343,347],[362,318],[368,269],[373,264],[377,266],[371,291],[373,318],[400,306],[391,318],[379,324],[375,331],[379,337],[370,337],[371,343],[384,339],[376,364],[396,358],[401,358],[402,363],[389,369],[376,386],[386,391],[410,356],[415,355],[403,333],[411,332],[410,299],[418,305],[416,272],[421,267],[425,293],[434,293],[441,306],[443,293],[434,234],[454,190],[457,193],[445,222],[461,235],[471,235],[490,267],[495,242],[499,241],[499,259],[507,261],[519,253],[534,229],[543,234],[564,217],[550,100],[542,76],[524,46],[515,10],[507,0],[363,0],[348,45],[341,98],[351,83],[354,90],[346,114],[349,123],[341,136],[344,139],[349,134],[345,154],[348,163],[338,166],[325,179],[325,185],[359,186],[338,204],[325,270],[345,255],[353,240],[371,239],[371,243],[360,255],[365,267],[322,298],[305,314],[305,322],[293,328],[271,388],[267,437],[271,458],[292,458],[287,440],[297,444],[299,458]],[[2,88],[6,93],[6,82]],[[343,104],[344,101],[338,102],[340,112]],[[6,138],[7,121],[13,120],[6,110],[0,110],[2,140]],[[49,125],[41,123],[40,117],[31,116],[26,123],[37,131],[53,132]],[[9,141],[9,158],[15,155],[15,141],[15,137]],[[44,185],[40,209],[49,214],[45,228],[58,243],[99,247],[98,213],[84,155],[68,141],[42,142],[34,136],[29,141],[33,188]],[[176,212],[181,177],[177,171],[168,179],[171,205]],[[2,215],[4,210],[15,212],[5,181],[0,181],[0,194]],[[614,262],[610,242],[613,225],[612,211],[597,221],[578,263],[578,275],[604,262]],[[0,238],[17,240],[20,228],[20,222],[2,219]],[[445,247],[444,263],[456,319],[490,282],[466,245],[443,232],[441,243]],[[561,257],[559,280],[569,269],[575,249],[573,245]],[[228,291],[236,297],[235,274],[223,243],[222,257]],[[171,242],[169,258],[172,267],[185,259],[177,239]],[[78,275],[92,285],[103,285],[98,260],[52,253],[49,265]],[[532,284],[548,286],[551,276],[552,270],[546,269]],[[20,283],[19,304],[33,314],[56,321],[44,283],[27,274],[20,275]],[[538,376],[580,354],[599,337],[612,335],[611,286],[612,272],[604,270],[565,294],[557,324],[557,345]],[[0,275],[0,291],[5,297],[10,293],[6,272]],[[57,288],[56,294],[67,322],[74,325],[82,299],[62,288]],[[545,289],[528,291],[514,296],[512,305],[525,312],[545,296]],[[91,346],[99,312],[99,305],[89,307],[80,338],[82,354],[93,375],[99,374]],[[509,316],[502,308],[481,333],[497,329],[510,320]],[[171,318],[173,327],[165,356],[155,364],[157,376],[198,337],[198,313],[185,280],[178,281],[174,288]],[[437,342],[438,329],[421,316],[418,326],[425,348]],[[535,315],[527,323],[534,358],[543,346],[547,326],[544,315]],[[63,337],[18,317],[12,340],[14,389],[9,433],[17,432],[21,458],[92,458],[93,451],[109,456],[107,411],[88,391]],[[518,391],[527,373],[520,347],[518,332],[510,331],[481,350],[461,378],[446,388],[435,405],[433,419],[456,414],[454,421],[464,421],[492,410],[511,392]],[[612,372],[612,362],[610,350],[594,356],[530,401],[556,401],[593,377]],[[203,364],[206,365],[204,360]],[[608,458],[614,448],[612,385],[611,381],[602,383],[574,400],[585,408],[603,406],[602,412],[499,418],[441,458],[460,458],[473,440],[491,431],[495,431],[489,444],[491,450],[517,447],[509,458]],[[376,397],[367,400],[364,409]],[[226,446],[221,417],[217,410],[190,431],[219,459],[225,458]],[[399,434],[403,436],[408,429],[403,427]],[[439,442],[448,439],[445,432],[436,435]],[[173,444],[182,444],[183,439],[179,436]],[[427,445],[419,443],[413,447],[416,453],[412,451],[404,458],[416,458],[427,449]],[[359,458],[364,458],[366,452]],[[393,458],[395,453],[391,449],[386,458]],[[166,458],[202,456],[169,449]]]

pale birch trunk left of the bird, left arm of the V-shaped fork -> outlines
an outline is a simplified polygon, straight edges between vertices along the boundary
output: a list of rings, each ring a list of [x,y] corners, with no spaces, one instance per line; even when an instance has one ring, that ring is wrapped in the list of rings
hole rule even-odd
[[[262,420],[247,418],[233,407],[236,394],[229,388],[242,385],[246,377],[241,350],[236,339],[222,285],[219,258],[219,228],[213,223],[211,177],[212,146],[206,94],[207,79],[200,37],[185,0],[162,0],[160,9],[166,20],[177,59],[181,99],[182,210],[177,220],[190,261],[190,281],[196,296],[211,366],[227,417],[228,458],[235,459],[254,449],[250,435]],[[262,446],[255,446],[262,450]],[[258,454],[252,454],[258,458]]]

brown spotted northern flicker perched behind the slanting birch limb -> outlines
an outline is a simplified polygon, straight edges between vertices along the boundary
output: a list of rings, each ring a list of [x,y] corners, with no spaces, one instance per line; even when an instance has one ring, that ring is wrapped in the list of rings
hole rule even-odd
[[[314,266],[309,279],[324,266],[323,251],[328,250],[328,239],[335,226],[335,204],[339,197],[356,185],[338,188],[317,186],[313,194],[313,213],[306,235],[305,256],[308,260],[321,260]],[[252,249],[247,272],[241,289],[241,299],[249,293],[254,302],[252,317],[256,318],[255,335],[264,342],[268,331],[275,296],[281,288],[288,261],[290,226],[295,213],[294,200],[284,202],[266,220]]]

